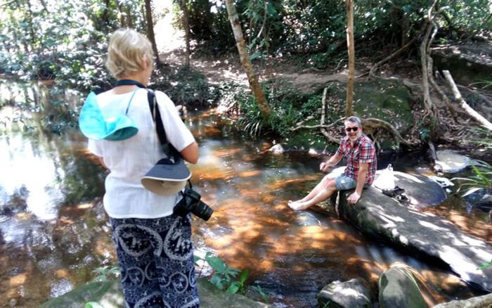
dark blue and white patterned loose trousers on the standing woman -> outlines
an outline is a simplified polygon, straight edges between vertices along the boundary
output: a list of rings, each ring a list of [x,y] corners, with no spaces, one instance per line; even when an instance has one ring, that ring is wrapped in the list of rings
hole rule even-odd
[[[189,215],[110,222],[127,307],[199,307]]]

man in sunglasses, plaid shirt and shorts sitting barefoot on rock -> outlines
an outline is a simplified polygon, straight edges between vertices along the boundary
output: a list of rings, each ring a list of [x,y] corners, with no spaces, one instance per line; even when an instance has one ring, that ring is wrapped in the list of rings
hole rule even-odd
[[[342,158],[347,158],[347,167],[344,174],[334,179],[323,177],[321,182],[306,197],[297,201],[289,201],[294,210],[306,210],[330,198],[335,191],[347,191],[356,188],[347,198],[350,204],[355,204],[361,198],[362,189],[373,184],[376,173],[376,150],[368,136],[362,133],[361,119],[349,117],[345,121],[344,136],[340,141],[337,153],[327,162],[321,162],[320,170],[326,172],[330,167],[337,165]]]

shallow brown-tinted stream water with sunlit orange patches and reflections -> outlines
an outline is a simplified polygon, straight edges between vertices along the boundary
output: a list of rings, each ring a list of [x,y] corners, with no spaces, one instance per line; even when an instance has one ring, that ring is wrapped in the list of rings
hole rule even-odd
[[[329,214],[293,212],[323,176],[323,157],[273,154],[272,141],[234,134],[214,115],[190,122],[200,160],[190,166],[195,188],[215,212],[209,222],[193,217],[198,255],[212,252],[226,264],[248,269],[278,307],[316,307],[316,294],[332,281],[362,277],[375,283],[395,262],[420,273],[429,304],[481,294],[422,256],[409,256],[363,236]],[[80,134],[0,136],[0,306],[38,307],[91,281],[91,271],[115,262],[110,226],[102,209],[105,170],[84,148]],[[430,174],[422,155],[387,155],[406,172]],[[425,209],[490,241],[486,213],[460,198]],[[207,267],[198,268],[202,275]],[[254,291],[247,295],[255,300]]]

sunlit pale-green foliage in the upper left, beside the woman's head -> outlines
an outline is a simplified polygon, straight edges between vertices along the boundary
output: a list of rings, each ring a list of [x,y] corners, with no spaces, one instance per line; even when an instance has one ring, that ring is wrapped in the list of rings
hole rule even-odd
[[[105,89],[108,34],[131,26],[145,32],[143,1],[8,1],[1,8],[0,73],[57,79],[71,89]]]

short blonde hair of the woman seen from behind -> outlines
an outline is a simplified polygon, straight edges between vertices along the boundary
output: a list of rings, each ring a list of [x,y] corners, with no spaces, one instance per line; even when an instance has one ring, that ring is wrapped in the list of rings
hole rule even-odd
[[[124,28],[112,34],[108,46],[106,68],[117,79],[143,70],[143,57],[153,65],[152,44],[142,34]]]

